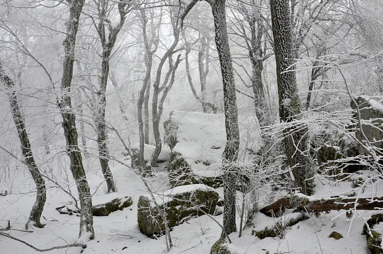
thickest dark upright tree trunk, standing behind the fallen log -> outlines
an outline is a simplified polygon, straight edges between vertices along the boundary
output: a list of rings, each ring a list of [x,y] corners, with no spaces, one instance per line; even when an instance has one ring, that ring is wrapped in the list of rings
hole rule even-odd
[[[298,119],[301,104],[297,94],[295,73],[292,72],[293,41],[290,21],[289,0],[270,0],[272,28],[274,36],[274,52],[277,66],[277,83],[279,96],[279,118],[283,122],[293,122]],[[282,73],[290,67],[289,72]],[[284,147],[288,166],[295,178],[295,187],[303,194],[314,192],[312,164],[302,152],[307,150],[307,128],[283,129]]]

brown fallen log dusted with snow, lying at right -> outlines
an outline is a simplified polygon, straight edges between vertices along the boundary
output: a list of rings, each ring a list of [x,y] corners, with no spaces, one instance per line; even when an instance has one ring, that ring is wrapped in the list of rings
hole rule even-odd
[[[371,198],[315,198],[305,196],[303,194],[295,194],[292,196],[283,197],[274,203],[265,206],[259,212],[267,216],[280,216],[285,209],[298,208],[303,211],[307,210],[322,212],[330,210],[381,210],[383,209],[383,197]]]

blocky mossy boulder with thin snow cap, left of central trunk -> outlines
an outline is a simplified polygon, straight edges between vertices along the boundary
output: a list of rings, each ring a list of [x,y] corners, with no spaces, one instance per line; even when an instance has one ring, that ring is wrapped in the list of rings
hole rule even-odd
[[[204,184],[180,186],[153,195],[160,209],[165,211],[169,227],[205,213],[213,215],[218,201],[218,193]],[[163,233],[165,226],[152,197],[149,194],[140,196],[137,206],[137,220],[141,233],[147,236]]]

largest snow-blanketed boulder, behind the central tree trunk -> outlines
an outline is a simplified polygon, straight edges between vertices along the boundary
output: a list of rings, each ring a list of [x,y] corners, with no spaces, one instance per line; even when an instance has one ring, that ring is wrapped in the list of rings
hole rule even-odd
[[[239,116],[240,161],[251,161],[258,151],[261,137],[255,116]],[[226,145],[224,114],[172,111],[165,121],[165,142],[172,149],[168,167],[173,187],[204,183],[217,188],[222,184],[222,153]]]

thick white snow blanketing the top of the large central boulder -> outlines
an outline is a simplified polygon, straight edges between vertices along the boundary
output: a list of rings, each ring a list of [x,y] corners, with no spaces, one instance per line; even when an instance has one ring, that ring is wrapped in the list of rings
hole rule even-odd
[[[222,153],[226,144],[224,114],[173,111],[171,120],[177,123],[177,141],[173,151],[181,153],[192,168],[202,177],[216,177],[223,174]],[[258,151],[260,140],[259,125],[254,116],[238,116],[241,151],[240,159],[249,159],[248,150]]]

